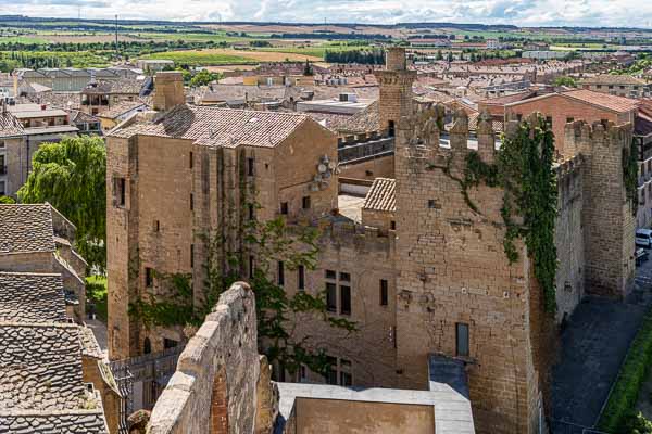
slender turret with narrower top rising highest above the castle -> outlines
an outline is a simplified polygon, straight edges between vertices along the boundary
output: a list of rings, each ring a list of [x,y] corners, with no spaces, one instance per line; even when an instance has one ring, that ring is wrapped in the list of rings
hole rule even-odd
[[[404,48],[391,47],[387,50],[385,69],[376,71],[374,75],[380,88],[380,129],[394,136],[401,116],[412,114],[412,84],[416,79],[416,71],[408,71]]]

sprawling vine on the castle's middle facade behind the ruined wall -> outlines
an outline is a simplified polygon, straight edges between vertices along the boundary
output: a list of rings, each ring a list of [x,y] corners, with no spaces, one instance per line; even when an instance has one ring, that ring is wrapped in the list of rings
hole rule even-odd
[[[259,350],[269,362],[277,362],[290,374],[304,365],[313,372],[326,375],[330,366],[325,348],[315,345],[311,336],[297,335],[296,326],[306,315],[346,333],[356,331],[356,324],[327,314],[323,290],[312,295],[310,289],[305,289],[289,296],[275,280],[274,272],[280,263],[287,270],[314,269],[318,232],[311,227],[287,226],[281,218],[265,222],[252,220],[243,231],[247,252],[225,252],[226,243],[220,234],[202,238],[208,257],[203,265],[205,279],[201,296],[195,294],[189,276],[156,273],[167,286],[164,290],[167,296],[138,299],[129,305],[129,315],[139,318],[146,327],[199,327],[220,295],[234,282],[243,280],[250,267],[244,257],[255,253],[256,258],[264,259],[255,260],[253,275],[244,280],[249,280],[255,294]]]

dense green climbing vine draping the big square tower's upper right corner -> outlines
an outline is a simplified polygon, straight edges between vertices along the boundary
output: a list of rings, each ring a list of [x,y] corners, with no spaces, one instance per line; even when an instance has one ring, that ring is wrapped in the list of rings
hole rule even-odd
[[[430,166],[457,182],[468,207],[478,214],[481,212],[471,200],[469,189],[480,183],[503,189],[501,217],[505,226],[505,255],[511,264],[518,260],[515,242],[524,240],[550,314],[556,310],[557,269],[554,244],[557,189],[553,162],[554,136],[539,118],[538,125],[524,122],[513,137],[503,139],[494,164],[484,162],[477,152],[468,153],[463,178],[452,175],[451,159],[446,166]]]

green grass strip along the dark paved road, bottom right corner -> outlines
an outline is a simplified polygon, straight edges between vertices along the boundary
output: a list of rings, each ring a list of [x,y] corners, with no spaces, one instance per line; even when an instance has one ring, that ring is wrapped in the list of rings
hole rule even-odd
[[[618,433],[636,411],[636,401],[652,363],[652,310],[634,339],[598,426]]]

